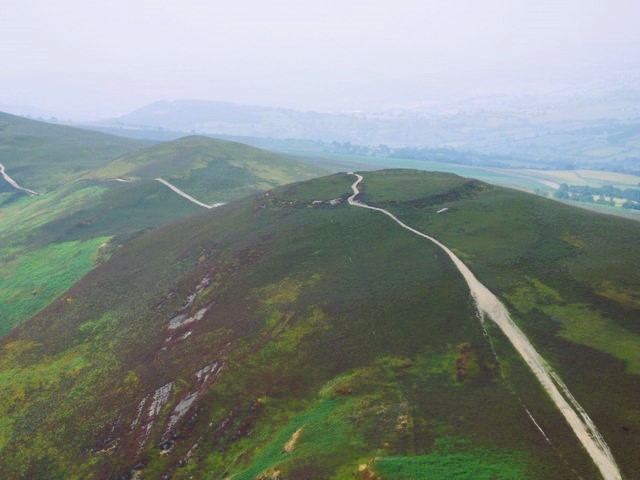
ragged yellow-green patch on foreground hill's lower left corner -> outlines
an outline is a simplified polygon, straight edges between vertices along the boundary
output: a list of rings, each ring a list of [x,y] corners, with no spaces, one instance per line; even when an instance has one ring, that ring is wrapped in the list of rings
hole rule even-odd
[[[93,332],[112,333],[110,338],[126,335],[126,329],[113,330],[115,320],[106,313],[84,325]],[[110,347],[93,339],[51,354],[44,353],[46,345],[33,341],[15,340],[0,347],[0,452],[19,451],[7,465],[11,474],[3,478],[87,478],[79,473],[78,457],[66,451],[60,439],[74,428],[74,440],[86,442],[105,424],[104,417],[89,420],[86,412],[93,408],[87,405],[105,378],[113,378],[120,368]],[[132,382],[135,378],[126,375],[118,388],[126,392]],[[53,405],[62,408],[43,418]],[[29,445],[21,442],[24,437]],[[47,465],[47,475],[32,473],[37,462]]]

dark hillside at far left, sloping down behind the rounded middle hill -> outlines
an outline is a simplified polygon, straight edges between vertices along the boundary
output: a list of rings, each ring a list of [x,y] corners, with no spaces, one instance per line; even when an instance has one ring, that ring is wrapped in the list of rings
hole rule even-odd
[[[0,163],[25,188],[45,193],[149,142],[0,112]],[[0,179],[0,193],[13,189]]]

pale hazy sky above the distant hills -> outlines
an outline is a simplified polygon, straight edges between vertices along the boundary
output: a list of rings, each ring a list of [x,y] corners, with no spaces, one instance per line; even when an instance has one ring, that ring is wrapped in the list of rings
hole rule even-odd
[[[0,105],[366,109],[591,80],[637,65],[638,19],[638,0],[0,0]]]

